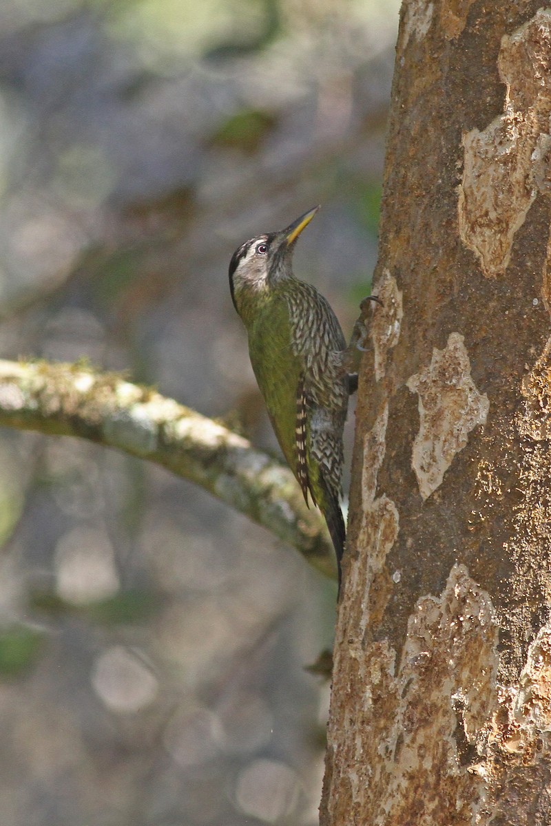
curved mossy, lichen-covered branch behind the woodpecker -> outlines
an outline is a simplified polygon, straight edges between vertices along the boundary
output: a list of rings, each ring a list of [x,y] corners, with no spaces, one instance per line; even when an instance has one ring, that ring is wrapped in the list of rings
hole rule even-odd
[[[0,425],[77,436],[168,468],[264,525],[335,577],[321,515],[292,473],[247,439],[116,373],[0,360]]]

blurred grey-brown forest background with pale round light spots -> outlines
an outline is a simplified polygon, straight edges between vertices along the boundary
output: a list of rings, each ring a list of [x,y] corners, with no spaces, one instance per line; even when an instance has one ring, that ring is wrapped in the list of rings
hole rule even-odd
[[[368,294],[398,0],[2,0],[0,356],[88,359],[276,450],[230,255]],[[354,424],[351,411],[349,433]],[[0,434],[2,826],[317,822],[335,583],[201,490]]]

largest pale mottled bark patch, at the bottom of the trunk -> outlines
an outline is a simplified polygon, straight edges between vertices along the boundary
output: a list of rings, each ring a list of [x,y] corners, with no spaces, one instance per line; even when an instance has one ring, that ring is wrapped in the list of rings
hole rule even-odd
[[[496,708],[490,597],[455,565],[417,602],[398,669],[387,641],[354,644],[356,630],[341,610],[335,650],[353,662],[335,669],[321,823],[327,805],[339,826],[474,823],[486,785],[471,767]]]

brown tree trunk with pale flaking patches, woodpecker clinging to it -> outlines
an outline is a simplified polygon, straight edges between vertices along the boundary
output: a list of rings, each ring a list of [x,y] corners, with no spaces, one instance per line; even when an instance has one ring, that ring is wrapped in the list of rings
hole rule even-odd
[[[551,10],[404,2],[324,826],[551,823]]]

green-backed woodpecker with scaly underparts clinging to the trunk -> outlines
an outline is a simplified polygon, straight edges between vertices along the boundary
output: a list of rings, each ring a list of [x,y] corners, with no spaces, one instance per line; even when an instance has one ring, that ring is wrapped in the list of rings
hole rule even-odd
[[[346,341],[328,301],[292,273],[298,236],[320,207],[285,230],[245,241],[230,261],[230,293],[287,463],[325,517],[341,583],[346,529],[340,510],[349,376]]]

